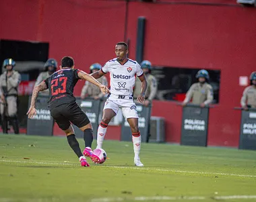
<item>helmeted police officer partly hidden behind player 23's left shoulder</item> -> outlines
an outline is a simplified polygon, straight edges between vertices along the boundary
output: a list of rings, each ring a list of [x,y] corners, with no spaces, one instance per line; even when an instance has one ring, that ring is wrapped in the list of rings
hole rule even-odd
[[[48,61],[46,61],[44,64],[44,67],[46,71],[43,71],[38,75],[36,83],[34,84],[35,86],[38,86],[42,81],[44,81],[57,70],[57,61],[55,59],[48,59]],[[49,96],[49,89],[40,92],[40,94]]]

